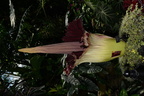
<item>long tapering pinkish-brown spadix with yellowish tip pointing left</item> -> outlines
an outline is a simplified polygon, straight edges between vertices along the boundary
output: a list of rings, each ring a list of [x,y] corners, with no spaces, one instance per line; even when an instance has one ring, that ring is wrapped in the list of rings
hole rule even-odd
[[[49,53],[49,54],[70,54],[72,52],[83,51],[80,42],[63,42],[57,44],[49,44],[31,48],[22,48],[18,51],[25,53]]]

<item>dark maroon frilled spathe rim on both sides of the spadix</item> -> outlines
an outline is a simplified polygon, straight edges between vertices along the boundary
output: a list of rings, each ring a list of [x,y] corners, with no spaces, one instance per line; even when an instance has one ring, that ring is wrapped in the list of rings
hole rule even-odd
[[[67,29],[66,29],[66,34],[65,36],[62,38],[62,40],[64,42],[80,42],[81,46],[79,47],[83,47],[85,46],[83,43],[83,36],[84,36],[84,28],[83,28],[83,24],[82,24],[82,20],[81,19],[76,19],[72,22],[69,23]],[[76,59],[79,59],[79,57],[82,55],[83,51],[78,51],[78,52],[71,52],[71,54],[67,55],[67,58],[65,59],[65,68],[64,68],[64,72],[69,75],[69,73],[72,71],[72,69],[75,67],[75,61]]]

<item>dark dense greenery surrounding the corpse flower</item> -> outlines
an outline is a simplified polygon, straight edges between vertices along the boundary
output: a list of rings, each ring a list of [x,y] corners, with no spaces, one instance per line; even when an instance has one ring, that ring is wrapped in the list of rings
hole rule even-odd
[[[63,79],[67,81],[63,86],[62,55],[18,52],[24,47],[62,42],[68,11],[69,22],[81,17],[87,31],[115,37],[126,13],[123,0],[12,0],[12,3],[16,15],[14,28],[9,20],[9,2],[0,1],[1,96],[143,94],[142,82],[125,80],[117,59],[90,66],[79,65],[72,75]],[[19,78],[13,81],[9,76]]]

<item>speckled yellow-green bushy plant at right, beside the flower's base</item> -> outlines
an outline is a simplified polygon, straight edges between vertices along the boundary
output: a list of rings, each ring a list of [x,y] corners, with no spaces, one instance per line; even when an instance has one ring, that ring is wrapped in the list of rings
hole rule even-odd
[[[119,35],[128,35],[126,42],[126,52],[122,56],[121,64],[130,64],[130,66],[135,67],[143,63],[143,36],[144,36],[144,17],[142,13],[142,8],[136,8],[131,11],[129,8],[126,11],[126,15],[122,20]]]

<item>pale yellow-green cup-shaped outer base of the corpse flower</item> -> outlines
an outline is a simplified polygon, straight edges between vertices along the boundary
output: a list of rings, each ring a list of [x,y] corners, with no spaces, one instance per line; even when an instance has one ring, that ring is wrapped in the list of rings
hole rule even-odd
[[[124,54],[125,42],[102,34],[89,34],[89,47],[85,49],[75,66],[84,62],[106,62]]]

